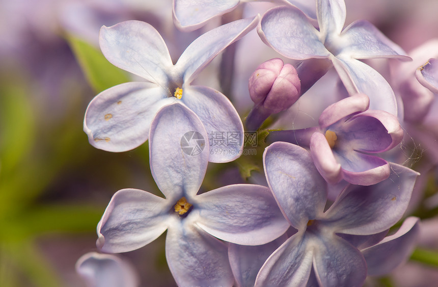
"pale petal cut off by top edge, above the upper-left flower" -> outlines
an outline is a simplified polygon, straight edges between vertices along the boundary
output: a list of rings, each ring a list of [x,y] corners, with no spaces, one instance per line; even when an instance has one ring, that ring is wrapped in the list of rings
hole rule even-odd
[[[173,0],[174,23],[182,31],[196,30],[214,16],[233,10],[240,0]]]

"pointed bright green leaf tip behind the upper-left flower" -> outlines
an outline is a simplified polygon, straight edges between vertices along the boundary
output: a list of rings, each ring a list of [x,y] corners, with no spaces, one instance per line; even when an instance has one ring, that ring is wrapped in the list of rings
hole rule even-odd
[[[96,93],[130,81],[126,73],[108,62],[99,49],[73,35],[66,38]]]

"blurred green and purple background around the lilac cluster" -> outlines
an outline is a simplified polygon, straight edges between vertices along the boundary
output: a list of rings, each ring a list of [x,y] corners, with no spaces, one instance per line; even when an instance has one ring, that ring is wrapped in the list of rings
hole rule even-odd
[[[191,40],[227,17],[214,19],[204,30],[180,33],[172,22],[171,2],[0,0],[0,286],[85,286],[74,265],[84,253],[96,251],[96,226],[112,195],[123,188],[159,194],[149,170],[147,144],[122,153],[98,150],[88,143],[83,120],[98,92],[132,79],[100,54],[102,25],[147,21],[163,35],[176,60]],[[250,10],[265,8],[246,5]],[[346,0],[346,6],[347,24],[367,19],[406,51],[438,37],[436,0]],[[249,37],[257,38],[253,34]],[[261,41],[255,43],[264,47]],[[249,53],[248,57],[247,62],[236,59],[236,63],[240,60],[239,65],[243,62],[254,70],[276,56],[251,59]],[[220,60],[205,71],[204,79],[213,82],[212,87],[220,82],[214,70]],[[244,117],[251,108],[248,91],[242,92],[249,75],[239,76],[240,83],[216,88],[239,97],[236,105]],[[227,184],[242,181],[235,165],[218,173],[218,167],[210,164],[208,186],[203,188],[223,185],[221,176]],[[429,194],[436,193],[436,176],[431,178]],[[423,224],[427,227],[422,228],[423,241],[435,252],[437,213],[428,213]],[[121,254],[144,286],[175,285],[166,264],[164,238],[163,234],[144,248]],[[413,260],[389,277],[367,284],[437,282],[438,269],[433,266],[438,258],[425,261]]]

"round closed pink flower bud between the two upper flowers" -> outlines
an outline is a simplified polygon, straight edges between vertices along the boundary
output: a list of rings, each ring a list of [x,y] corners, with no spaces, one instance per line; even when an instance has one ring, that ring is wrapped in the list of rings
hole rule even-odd
[[[272,114],[288,109],[300,96],[295,68],[279,58],[260,64],[248,84],[251,99]]]

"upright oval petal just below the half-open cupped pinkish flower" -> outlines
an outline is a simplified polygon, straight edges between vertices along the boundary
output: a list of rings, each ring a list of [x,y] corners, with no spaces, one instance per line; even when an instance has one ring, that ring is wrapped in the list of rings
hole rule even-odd
[[[306,226],[320,215],[326,184],[307,150],[290,143],[273,143],[263,153],[263,166],[269,188],[293,227]]]

